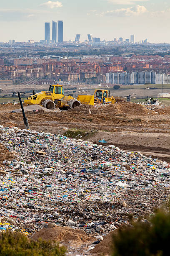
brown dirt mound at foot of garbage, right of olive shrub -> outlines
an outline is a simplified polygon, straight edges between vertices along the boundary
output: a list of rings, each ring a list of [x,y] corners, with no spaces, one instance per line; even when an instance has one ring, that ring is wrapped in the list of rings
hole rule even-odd
[[[63,244],[70,243],[75,246],[80,246],[90,241],[83,230],[77,230],[68,227],[54,227],[54,228],[42,228],[32,236],[33,240],[42,238],[46,241],[57,241]]]

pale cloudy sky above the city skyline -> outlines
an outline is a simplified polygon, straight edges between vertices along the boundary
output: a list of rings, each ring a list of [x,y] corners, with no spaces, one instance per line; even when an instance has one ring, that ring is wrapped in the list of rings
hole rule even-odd
[[[44,40],[44,22],[64,21],[64,41],[87,34],[170,43],[170,0],[1,0],[0,41]],[[52,31],[52,28],[51,28]]]

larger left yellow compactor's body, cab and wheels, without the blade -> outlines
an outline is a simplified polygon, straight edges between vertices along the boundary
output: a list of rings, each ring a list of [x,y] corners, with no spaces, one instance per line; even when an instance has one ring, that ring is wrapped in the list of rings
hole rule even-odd
[[[55,109],[56,106],[62,110],[68,110],[81,105],[80,101],[72,96],[65,96],[63,85],[59,84],[50,85],[47,92],[38,92],[29,96],[27,100],[24,100],[24,103],[28,105],[42,105],[47,109]]]

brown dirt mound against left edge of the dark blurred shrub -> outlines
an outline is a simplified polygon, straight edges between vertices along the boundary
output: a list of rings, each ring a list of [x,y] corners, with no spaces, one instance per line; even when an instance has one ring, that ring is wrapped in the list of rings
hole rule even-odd
[[[112,231],[110,232],[104,239],[103,241],[101,241],[99,244],[97,244],[95,246],[94,249],[92,249],[90,251],[90,253],[92,253],[91,255],[94,255],[94,254],[102,254],[102,255],[111,255],[112,253],[112,236],[113,236],[113,233],[115,233],[116,231]]]

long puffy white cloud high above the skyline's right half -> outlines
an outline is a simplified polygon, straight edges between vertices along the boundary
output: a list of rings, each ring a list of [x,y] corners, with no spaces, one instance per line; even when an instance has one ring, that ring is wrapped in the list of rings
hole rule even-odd
[[[143,5],[136,5],[135,7],[121,8],[117,10],[107,11],[101,13],[103,16],[138,16],[143,13],[147,13],[147,9]]]

